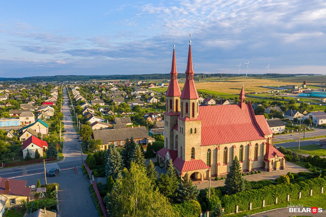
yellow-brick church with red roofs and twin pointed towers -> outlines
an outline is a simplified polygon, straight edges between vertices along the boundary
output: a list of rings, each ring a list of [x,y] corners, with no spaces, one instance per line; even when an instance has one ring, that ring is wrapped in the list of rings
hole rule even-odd
[[[273,131],[263,115],[246,104],[244,87],[239,103],[199,106],[189,40],[186,80],[181,92],[173,46],[170,84],[165,94],[164,148],[156,154],[163,166],[173,163],[178,175],[194,181],[225,175],[235,156],[242,171],[285,169],[285,156],[273,146]]]

